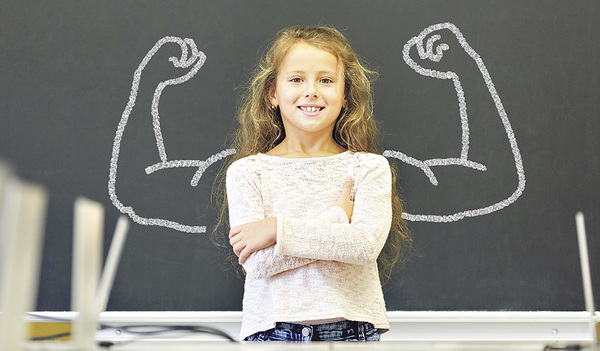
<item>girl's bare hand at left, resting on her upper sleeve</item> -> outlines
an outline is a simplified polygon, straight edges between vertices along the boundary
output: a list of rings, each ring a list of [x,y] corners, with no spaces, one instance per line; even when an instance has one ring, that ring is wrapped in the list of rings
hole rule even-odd
[[[271,217],[231,228],[229,244],[240,264],[254,252],[277,242],[277,218]]]

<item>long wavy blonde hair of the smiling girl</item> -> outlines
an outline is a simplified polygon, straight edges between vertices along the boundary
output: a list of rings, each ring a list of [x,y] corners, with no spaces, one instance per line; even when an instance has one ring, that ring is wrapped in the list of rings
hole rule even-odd
[[[213,240],[230,252],[226,236],[222,233],[223,228],[228,228],[225,172],[235,160],[266,153],[285,138],[281,115],[278,109],[271,107],[269,93],[275,88],[281,62],[290,49],[300,42],[336,56],[340,71],[344,74],[346,106],[337,118],[333,131],[334,140],[350,151],[380,153],[371,92],[371,81],[377,73],[365,68],[346,37],[335,28],[295,26],[282,29],[249,82],[237,114],[239,126],[233,136],[232,148],[236,150],[236,154],[224,164],[215,183],[216,191],[213,195],[216,196],[221,211],[213,231]],[[396,191],[396,172],[393,167],[392,176],[392,228],[378,258],[380,277],[384,282],[389,280],[392,268],[407,256],[412,246],[412,239],[402,219],[402,202]]]

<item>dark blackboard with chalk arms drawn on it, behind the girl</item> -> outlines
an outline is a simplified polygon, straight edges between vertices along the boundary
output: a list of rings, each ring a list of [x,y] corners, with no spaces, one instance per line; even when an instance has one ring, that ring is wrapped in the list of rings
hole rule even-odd
[[[376,118],[417,248],[384,287],[389,310],[583,310],[576,211],[600,304],[598,20],[596,0],[3,1],[0,157],[50,193],[37,309],[70,309],[80,195],[105,205],[105,246],[121,210],[142,223],[109,310],[241,309],[243,280],[202,230],[242,88],[296,24],[336,26],[380,74]],[[206,60],[153,110],[159,84],[194,67],[169,61],[183,47]],[[161,160],[191,163],[146,172]]]

